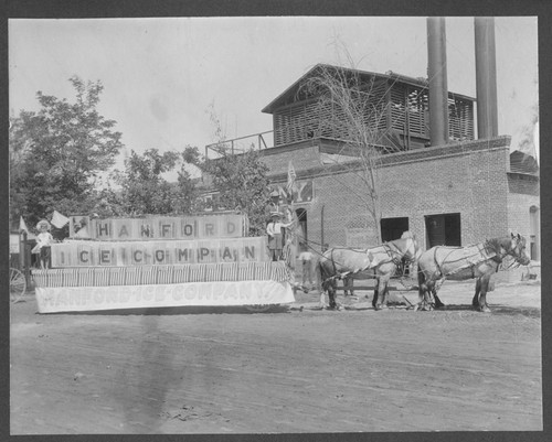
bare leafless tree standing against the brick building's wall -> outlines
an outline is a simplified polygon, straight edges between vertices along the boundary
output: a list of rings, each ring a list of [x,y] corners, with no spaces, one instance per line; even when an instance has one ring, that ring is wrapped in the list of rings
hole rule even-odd
[[[385,149],[382,142],[385,136],[385,90],[374,83],[373,77],[361,78],[353,66],[319,65],[300,91],[316,99],[312,112],[316,120],[309,121],[316,136],[339,141],[340,151],[335,155],[335,163],[353,173],[362,183],[353,186],[333,175],[362,202],[380,244],[379,166]]]

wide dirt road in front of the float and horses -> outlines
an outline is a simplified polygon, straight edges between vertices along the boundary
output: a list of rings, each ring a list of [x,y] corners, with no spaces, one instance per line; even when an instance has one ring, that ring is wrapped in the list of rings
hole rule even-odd
[[[491,314],[453,282],[433,312],[298,293],[267,313],[40,315],[25,297],[11,434],[541,430],[540,289],[497,284]]]

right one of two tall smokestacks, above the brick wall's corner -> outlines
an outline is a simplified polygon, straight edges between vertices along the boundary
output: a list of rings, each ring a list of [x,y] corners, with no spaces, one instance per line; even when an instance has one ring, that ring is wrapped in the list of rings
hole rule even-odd
[[[495,50],[495,19],[476,17],[477,138],[498,136],[497,61]]]

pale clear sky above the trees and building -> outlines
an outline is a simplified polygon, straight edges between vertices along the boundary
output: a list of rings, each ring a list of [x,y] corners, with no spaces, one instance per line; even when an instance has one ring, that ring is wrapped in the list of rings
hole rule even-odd
[[[495,20],[499,134],[516,150],[538,105],[538,20]],[[127,153],[203,149],[272,130],[261,110],[317,63],[427,76],[426,18],[10,19],[10,115],[36,91],[74,101],[68,78],[102,82],[98,111]],[[474,18],[446,18],[448,89],[476,97]],[[531,153],[531,152],[529,152]],[[123,164],[124,154],[118,160]]]

